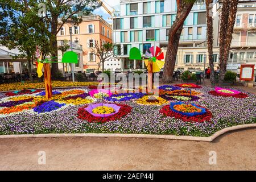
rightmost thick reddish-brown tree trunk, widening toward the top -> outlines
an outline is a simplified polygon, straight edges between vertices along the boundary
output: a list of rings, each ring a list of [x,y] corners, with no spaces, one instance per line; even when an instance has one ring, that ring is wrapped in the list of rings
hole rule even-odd
[[[223,0],[220,15],[220,84],[224,81],[239,0]]]

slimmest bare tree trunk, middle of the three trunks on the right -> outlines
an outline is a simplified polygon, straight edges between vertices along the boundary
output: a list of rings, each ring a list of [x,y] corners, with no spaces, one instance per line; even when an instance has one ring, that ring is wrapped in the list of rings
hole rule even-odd
[[[213,20],[212,20],[212,5],[213,0],[205,1],[207,7],[207,47],[208,47],[208,56],[210,64],[210,83],[212,87],[215,86],[215,71],[213,63]],[[205,60],[206,61],[206,60]]]

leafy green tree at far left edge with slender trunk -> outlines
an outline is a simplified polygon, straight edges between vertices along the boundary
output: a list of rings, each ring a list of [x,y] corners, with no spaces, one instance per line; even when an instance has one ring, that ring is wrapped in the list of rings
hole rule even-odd
[[[40,26],[36,1],[0,1],[0,44],[9,49],[18,48],[20,55],[13,59],[27,59],[28,74],[32,81],[32,62],[36,59],[36,46],[47,42],[46,30]],[[47,49],[47,47],[44,47]]]

